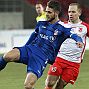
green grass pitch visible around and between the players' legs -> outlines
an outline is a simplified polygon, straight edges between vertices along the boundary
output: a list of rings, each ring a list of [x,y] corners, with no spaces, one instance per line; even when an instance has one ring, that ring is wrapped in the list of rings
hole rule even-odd
[[[49,65],[44,71],[44,75],[36,83],[35,89],[44,89],[48,67]],[[25,76],[25,65],[9,63],[7,67],[0,72],[0,89],[24,89]],[[89,89],[89,51],[85,53],[76,83],[74,85],[69,84],[65,89]]]

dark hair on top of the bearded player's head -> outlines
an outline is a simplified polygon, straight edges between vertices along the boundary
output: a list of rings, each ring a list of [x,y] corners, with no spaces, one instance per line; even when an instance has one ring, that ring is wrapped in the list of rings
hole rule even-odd
[[[47,6],[48,6],[49,8],[52,8],[52,9],[55,10],[55,11],[61,12],[61,5],[60,5],[60,3],[59,3],[57,0],[50,0],[50,1],[47,3]]]

